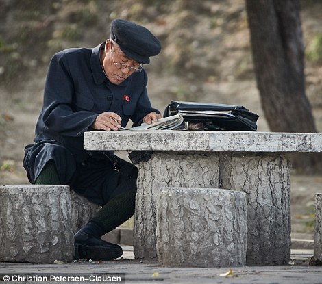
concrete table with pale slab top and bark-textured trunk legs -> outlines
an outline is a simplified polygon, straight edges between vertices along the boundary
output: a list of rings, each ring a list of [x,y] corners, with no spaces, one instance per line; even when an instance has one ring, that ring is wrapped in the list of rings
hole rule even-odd
[[[90,151],[149,151],[138,164],[134,254],[156,257],[156,200],[164,187],[246,192],[247,264],[290,257],[290,162],[286,153],[322,152],[320,133],[92,131]]]

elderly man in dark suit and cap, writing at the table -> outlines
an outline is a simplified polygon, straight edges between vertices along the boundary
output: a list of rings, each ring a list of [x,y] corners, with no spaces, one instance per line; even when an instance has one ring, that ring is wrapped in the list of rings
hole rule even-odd
[[[34,144],[23,166],[34,184],[70,185],[103,206],[75,234],[75,259],[111,260],[123,250],[101,240],[134,214],[138,170],[112,152],[84,151],[84,131],[117,131],[161,116],[147,95],[143,64],[161,44],[145,27],[116,19],[97,47],[66,49],[51,59]]]

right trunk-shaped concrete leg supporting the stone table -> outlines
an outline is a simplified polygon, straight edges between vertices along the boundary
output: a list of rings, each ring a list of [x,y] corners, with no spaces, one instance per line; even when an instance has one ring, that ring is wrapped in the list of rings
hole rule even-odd
[[[246,192],[247,265],[290,259],[290,163],[275,154],[220,155],[221,187]]]

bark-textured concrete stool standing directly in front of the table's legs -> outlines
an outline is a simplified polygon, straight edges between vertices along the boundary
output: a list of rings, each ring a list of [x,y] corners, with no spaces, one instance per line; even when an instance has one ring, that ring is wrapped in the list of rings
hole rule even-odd
[[[157,205],[157,255],[164,266],[244,266],[245,192],[162,188]]]

